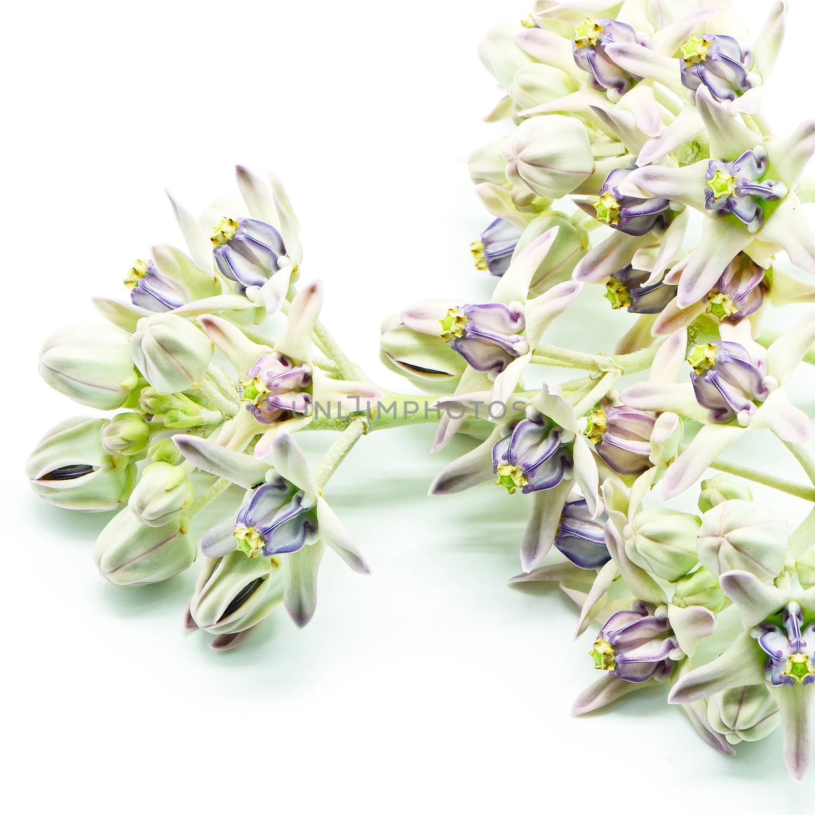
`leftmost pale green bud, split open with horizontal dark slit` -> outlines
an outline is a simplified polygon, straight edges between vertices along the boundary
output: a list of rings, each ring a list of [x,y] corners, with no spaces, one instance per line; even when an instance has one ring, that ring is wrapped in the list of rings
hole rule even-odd
[[[49,504],[83,512],[108,512],[126,501],[136,465],[105,451],[104,425],[104,419],[80,416],[52,427],[25,465],[33,491]]]

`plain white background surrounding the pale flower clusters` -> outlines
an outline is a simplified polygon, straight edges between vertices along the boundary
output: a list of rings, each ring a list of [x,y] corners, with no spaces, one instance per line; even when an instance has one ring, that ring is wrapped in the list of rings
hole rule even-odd
[[[756,20],[770,2],[736,5]],[[779,130],[815,114],[815,11],[793,7],[766,105]],[[165,185],[202,208],[235,194],[236,161],[282,176],[302,222],[303,275],[325,283],[326,322],[399,387],[377,360],[381,319],[425,296],[490,293],[468,252],[487,218],[463,159],[496,134],[479,121],[497,96],[476,46],[526,11],[515,0],[245,0],[6,12],[9,811],[801,811],[815,780],[787,777],[778,732],[725,759],[659,690],[571,718],[596,678],[590,636],[572,641],[575,614],[555,590],[506,585],[522,499],[488,485],[425,495],[466,449],[456,441],[431,458],[430,427],[363,439],[328,489],[373,575],[326,557],[308,628],[278,612],[227,654],[183,631],[197,566],[114,588],[90,557],[108,515],[55,509],[24,482],[37,438],[83,412],[39,380],[38,346],[62,324],[98,319],[90,294],[123,296],[127,267],[152,243],[178,243]],[[612,318],[597,299],[551,341],[607,350],[595,326]],[[617,335],[626,318],[615,317]],[[795,399],[811,408],[811,393],[799,385]],[[803,478],[772,438],[731,458]],[[805,509],[776,505],[791,521]]]

